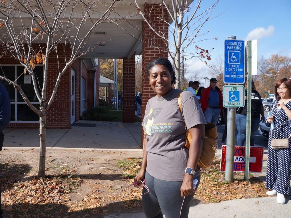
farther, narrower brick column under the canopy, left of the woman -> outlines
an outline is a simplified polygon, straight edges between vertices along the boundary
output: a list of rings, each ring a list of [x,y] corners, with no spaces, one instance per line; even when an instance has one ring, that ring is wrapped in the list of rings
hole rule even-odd
[[[122,122],[134,122],[135,53],[123,58],[123,111]]]

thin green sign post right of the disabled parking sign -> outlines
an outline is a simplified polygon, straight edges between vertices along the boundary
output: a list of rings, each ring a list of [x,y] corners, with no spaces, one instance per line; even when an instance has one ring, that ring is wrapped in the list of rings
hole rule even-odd
[[[249,151],[251,141],[251,110],[252,110],[252,41],[247,41],[247,113],[246,113],[246,165],[245,181],[249,181]]]

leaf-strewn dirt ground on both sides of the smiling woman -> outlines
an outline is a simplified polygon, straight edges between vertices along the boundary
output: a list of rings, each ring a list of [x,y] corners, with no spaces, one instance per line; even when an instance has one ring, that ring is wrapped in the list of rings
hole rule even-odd
[[[107,211],[112,213],[113,210],[141,209],[142,188],[130,185],[141,168],[142,158],[80,159],[80,163],[85,165],[90,161],[94,164],[106,163],[112,166],[112,169],[94,168],[92,172],[94,179],[92,175],[81,179],[76,175],[80,172],[75,171],[78,166],[71,167],[72,164],[76,164],[75,161],[67,160],[65,163],[68,166],[62,166],[59,156],[58,159],[54,159],[53,155],[50,157],[46,170],[51,176],[41,179],[33,176],[37,172],[28,173],[22,181],[18,181],[19,173],[24,171],[22,168],[13,171],[14,174],[11,173],[16,169],[15,166],[19,165],[20,159],[10,158],[10,162],[3,161],[6,165],[11,165],[5,168],[4,178],[1,179],[2,203],[10,217],[81,218],[91,217],[90,213],[94,214],[94,217],[99,217],[96,214],[101,217]],[[246,182],[239,176],[243,177],[242,174],[235,174],[236,179],[233,183],[225,182],[224,173],[219,173],[219,159],[215,159],[211,168],[202,170],[201,181],[194,197],[202,203],[213,203],[266,196],[263,182],[253,177]],[[93,182],[93,185],[89,186],[90,182],[91,184]],[[259,201],[256,200],[256,203]],[[77,215],[74,216],[75,214]]]

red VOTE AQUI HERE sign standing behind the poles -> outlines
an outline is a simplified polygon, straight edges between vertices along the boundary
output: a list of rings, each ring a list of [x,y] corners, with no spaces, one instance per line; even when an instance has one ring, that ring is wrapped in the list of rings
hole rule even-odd
[[[250,173],[262,173],[263,155],[264,155],[264,147],[261,147],[261,146],[250,147],[250,153],[249,153],[249,172]],[[245,172],[245,163],[246,163],[246,147],[234,146],[233,172],[235,173]],[[220,172],[225,172],[225,165],[226,165],[226,145],[222,145]]]

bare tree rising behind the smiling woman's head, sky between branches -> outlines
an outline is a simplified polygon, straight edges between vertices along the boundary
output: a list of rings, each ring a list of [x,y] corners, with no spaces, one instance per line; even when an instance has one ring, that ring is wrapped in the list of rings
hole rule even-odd
[[[152,10],[143,10],[135,0],[135,6],[138,13],[142,15],[144,21],[149,25],[154,34],[161,38],[166,45],[166,48],[162,48],[162,50],[168,52],[170,59],[173,60],[175,75],[177,78],[175,86],[178,89],[180,89],[181,82],[181,56],[184,56],[184,60],[193,57],[207,60],[211,59],[209,50],[202,49],[197,45],[195,45],[196,51],[186,52],[190,45],[196,44],[203,40],[208,40],[202,38],[208,32],[202,32],[202,27],[207,21],[212,19],[210,16],[219,2],[218,0],[213,5],[210,5],[205,10],[202,10],[200,8],[201,1],[202,0],[199,0],[197,3],[191,3],[189,5],[189,2],[185,0],[172,0],[170,2],[161,0],[160,7],[163,13],[162,15],[156,17],[152,15]],[[165,12],[166,14],[169,14],[170,21],[167,19],[168,16],[165,16]],[[162,21],[163,31],[156,29],[155,20]],[[169,35],[171,35],[169,38],[172,40],[169,40],[167,37],[168,26]],[[217,38],[215,39],[217,40]],[[158,45],[156,48],[161,49]],[[183,51],[185,51],[184,55],[181,55]],[[207,64],[206,61],[205,63]]]

